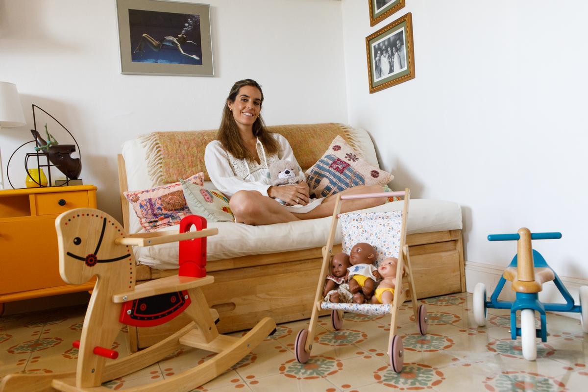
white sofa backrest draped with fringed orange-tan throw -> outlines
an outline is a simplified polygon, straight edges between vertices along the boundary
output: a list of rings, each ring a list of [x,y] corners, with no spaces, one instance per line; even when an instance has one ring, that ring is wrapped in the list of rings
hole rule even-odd
[[[312,166],[329,147],[332,141],[330,136],[332,135],[329,133],[329,137],[325,138],[325,133],[327,131],[332,133],[333,129],[340,129],[340,133],[335,132],[333,135],[340,134],[344,136],[369,163],[379,167],[372,139],[370,139],[368,132],[363,129],[332,123],[270,126],[268,128],[272,132],[279,132],[286,136],[296,159],[304,170]],[[122,145],[122,164],[125,166],[126,189],[124,189],[125,182],[121,182],[121,193],[125,190],[149,189],[166,182],[175,182],[179,177],[187,178],[195,173],[205,172],[204,147],[210,140],[214,139],[214,135],[215,131],[153,132],[127,140]],[[313,138],[313,135],[319,135],[322,138],[319,136]],[[162,151],[161,146],[156,146],[158,139],[161,138],[171,140],[171,148],[173,148],[173,143],[182,143],[182,148],[186,148],[186,140],[189,142],[191,139],[198,139],[195,140],[193,146],[188,146],[188,149],[193,150],[194,154],[191,163],[188,163],[189,167],[183,169],[184,172],[162,172],[161,167],[160,170],[153,169],[154,155]],[[121,170],[121,163],[119,163],[119,166],[121,166],[119,167],[119,170]],[[151,170],[149,170],[150,167]],[[122,197],[121,202],[125,203],[126,200]],[[128,202],[126,203],[128,205]],[[123,209],[123,213],[125,213],[125,209]],[[126,215],[123,217],[125,226],[127,226],[126,229],[130,233],[141,231],[141,225],[132,208],[128,209]],[[128,222],[128,225],[126,225],[126,222]]]

